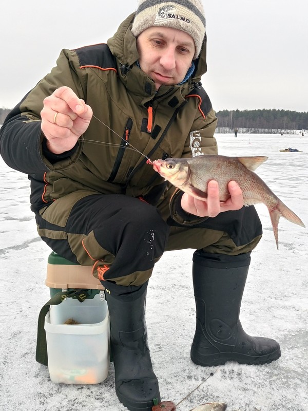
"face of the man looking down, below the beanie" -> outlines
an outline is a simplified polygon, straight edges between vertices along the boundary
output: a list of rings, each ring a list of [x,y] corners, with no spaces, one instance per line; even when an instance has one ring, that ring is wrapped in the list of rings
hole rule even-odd
[[[195,43],[184,31],[169,27],[149,27],[137,38],[139,64],[158,90],[162,84],[184,80],[195,54]]]

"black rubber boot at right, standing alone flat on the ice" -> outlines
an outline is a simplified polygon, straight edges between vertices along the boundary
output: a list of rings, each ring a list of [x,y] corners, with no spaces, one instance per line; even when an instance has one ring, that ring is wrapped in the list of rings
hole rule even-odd
[[[194,253],[192,278],[197,326],[191,360],[198,365],[265,364],[281,356],[272,339],[247,335],[240,323],[242,295],[250,263],[249,254],[227,256]]]

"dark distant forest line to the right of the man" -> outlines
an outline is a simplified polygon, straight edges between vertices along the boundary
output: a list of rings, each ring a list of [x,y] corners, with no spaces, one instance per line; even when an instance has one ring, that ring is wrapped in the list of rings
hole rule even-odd
[[[267,129],[267,130],[307,130],[308,112],[265,109],[262,110],[221,110],[216,113],[218,128]],[[247,131],[249,133],[249,131]]]

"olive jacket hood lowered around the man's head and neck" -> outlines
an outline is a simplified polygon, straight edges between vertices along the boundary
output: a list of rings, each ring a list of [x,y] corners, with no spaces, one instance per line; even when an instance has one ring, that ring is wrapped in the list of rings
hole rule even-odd
[[[122,76],[122,81],[126,83],[129,88],[129,84],[125,81],[124,77],[127,72],[132,70],[132,68],[137,68],[134,63],[139,59],[139,53],[137,50],[136,38],[131,32],[131,26],[134,19],[135,13],[130,14],[123,23],[119,26],[117,32],[107,41],[107,45],[110,48],[111,53],[117,58],[120,71],[119,76]],[[194,60],[195,71],[191,76],[189,82],[198,83],[201,80],[202,74],[207,70],[206,65],[206,34],[204,36],[203,45],[199,57]],[[134,67],[133,67],[134,66]],[[147,79],[147,77],[145,75]],[[152,82],[153,83],[153,82]],[[160,89],[162,86],[160,87]],[[191,87],[190,87],[191,88]]]

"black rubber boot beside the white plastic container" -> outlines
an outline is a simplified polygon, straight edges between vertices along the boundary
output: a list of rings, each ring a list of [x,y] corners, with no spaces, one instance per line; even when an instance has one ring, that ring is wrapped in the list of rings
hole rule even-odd
[[[130,411],[151,411],[153,399],[160,401],[160,393],[147,344],[147,283],[140,287],[114,284],[106,287],[110,288],[105,290],[105,295],[110,315],[115,391]]]

